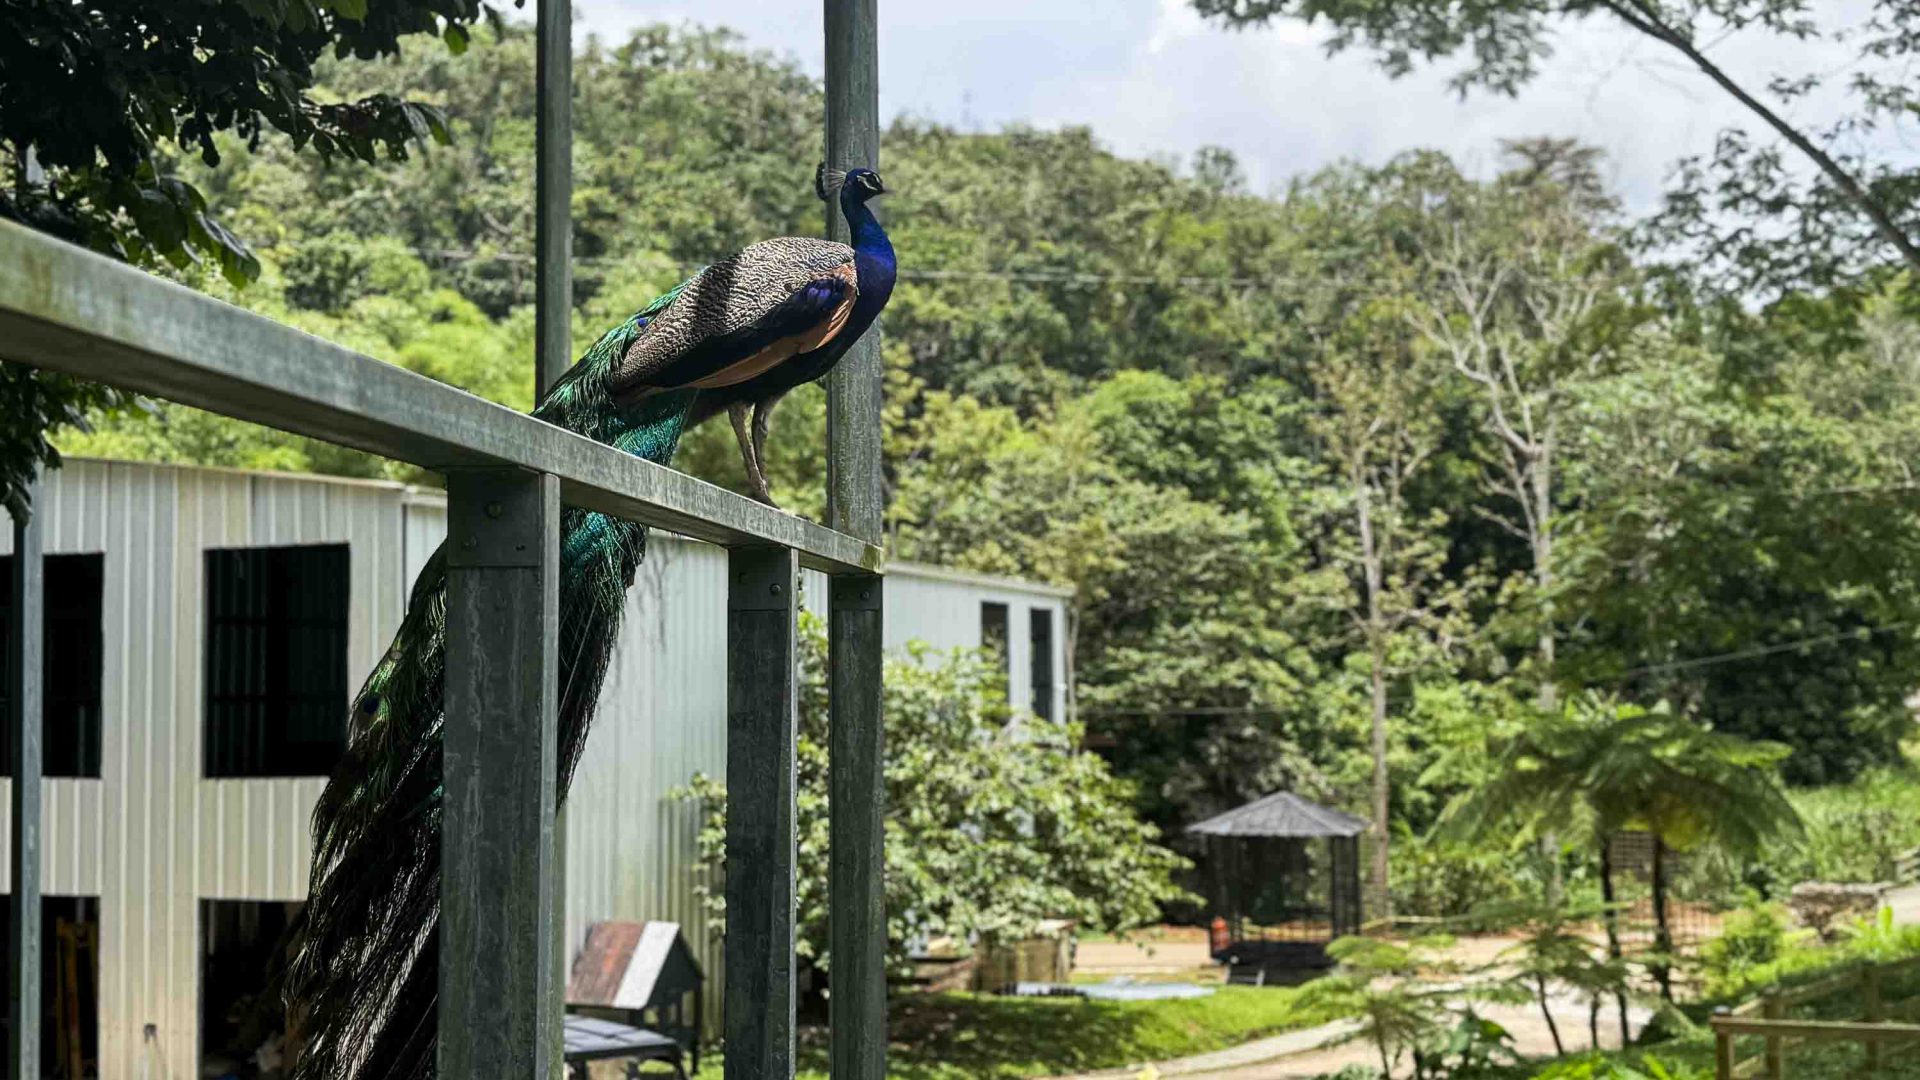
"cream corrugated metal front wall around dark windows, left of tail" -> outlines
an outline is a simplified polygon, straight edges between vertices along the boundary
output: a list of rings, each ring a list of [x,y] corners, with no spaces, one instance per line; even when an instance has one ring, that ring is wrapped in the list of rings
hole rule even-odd
[[[48,780],[44,803],[48,894],[100,897],[102,1076],[198,1072],[200,899],[307,890],[307,819],[326,780],[200,778],[204,552],[351,544],[357,686],[399,625],[401,494],[108,461],[48,477],[48,553],[106,552],[102,776]]]

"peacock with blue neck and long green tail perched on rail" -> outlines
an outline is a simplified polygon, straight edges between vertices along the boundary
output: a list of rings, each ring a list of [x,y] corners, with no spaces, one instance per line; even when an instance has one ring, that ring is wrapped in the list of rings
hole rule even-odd
[[[601,336],[534,415],[666,465],[687,427],[726,411],[749,486],[772,503],[772,407],[820,379],[887,306],[895,256],[872,169],[820,167],[852,244],[783,236],[728,256]],[[647,528],[561,519],[559,796],[580,761]],[[313,874],[282,990],[300,1080],[419,1080],[436,1070],[445,552],[413,584],[394,644],[351,703],[348,749],[313,811]]]

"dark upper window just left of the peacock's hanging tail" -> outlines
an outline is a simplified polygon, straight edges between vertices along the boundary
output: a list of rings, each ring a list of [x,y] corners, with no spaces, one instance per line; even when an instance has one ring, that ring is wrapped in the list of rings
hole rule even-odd
[[[346,748],[348,546],[207,552],[207,776],[324,776]]]

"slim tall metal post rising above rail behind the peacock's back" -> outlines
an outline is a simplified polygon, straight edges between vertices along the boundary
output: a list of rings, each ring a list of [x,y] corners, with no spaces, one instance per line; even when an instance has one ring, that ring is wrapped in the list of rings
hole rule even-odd
[[[540,0],[534,46],[534,400],[572,365],[574,307],[574,13],[572,0]],[[566,1011],[566,807],[553,811],[553,994],[549,1074],[561,1080]]]

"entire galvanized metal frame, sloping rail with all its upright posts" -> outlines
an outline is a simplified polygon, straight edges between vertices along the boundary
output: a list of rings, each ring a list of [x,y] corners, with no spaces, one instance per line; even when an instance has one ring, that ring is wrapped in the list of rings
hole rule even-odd
[[[538,373],[570,361],[566,0],[540,4]],[[876,0],[826,0],[828,161],[877,165]],[[795,167],[795,175],[806,169]],[[829,206],[829,231],[845,234]],[[726,1072],[793,1074],[799,567],[831,575],[833,1074],[885,1074],[877,332],[828,380],[829,527],[0,223],[0,357],[447,477],[440,1074],[559,1070],[559,507],[730,548]],[[8,1074],[38,1076],[40,557],[15,523]],[[344,705],[342,705],[344,711]]]

